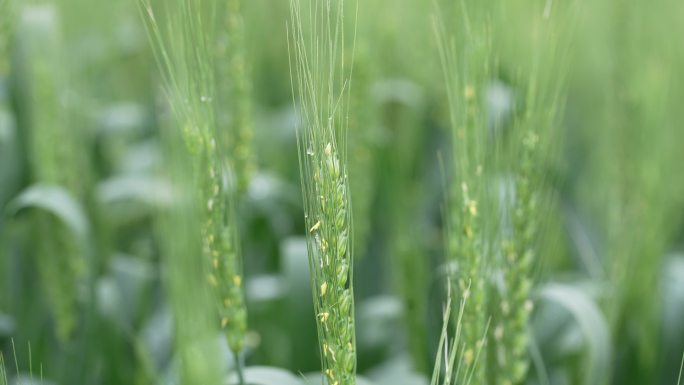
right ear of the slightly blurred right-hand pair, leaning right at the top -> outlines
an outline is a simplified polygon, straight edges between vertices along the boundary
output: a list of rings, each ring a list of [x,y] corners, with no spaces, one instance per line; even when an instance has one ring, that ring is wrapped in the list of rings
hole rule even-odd
[[[547,185],[546,167],[554,163],[562,110],[564,67],[558,59],[564,47],[554,25],[537,20],[540,39],[535,50],[544,51],[533,60],[532,69],[520,83],[523,107],[512,118],[510,137],[503,146],[502,169],[510,175],[511,192],[504,209],[509,223],[502,226],[498,268],[502,287],[491,308],[495,320],[491,333],[492,361],[497,384],[521,383],[529,369],[530,299],[535,268],[542,263],[540,240],[553,197]],[[562,63],[562,62],[560,62]]]

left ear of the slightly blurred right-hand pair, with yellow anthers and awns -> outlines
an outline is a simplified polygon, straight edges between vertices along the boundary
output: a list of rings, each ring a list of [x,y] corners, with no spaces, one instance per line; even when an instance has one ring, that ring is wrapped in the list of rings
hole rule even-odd
[[[459,13],[467,25],[465,9]],[[466,28],[461,34],[447,32],[444,22],[434,23],[442,71],[446,80],[451,129],[451,167],[447,211],[449,260],[458,266],[457,282],[462,308],[462,341],[465,370],[471,384],[486,383],[485,360],[476,356],[487,344],[488,265],[496,241],[498,213],[493,210],[494,168],[488,137],[485,92],[491,76],[493,53],[486,24]],[[456,36],[459,38],[456,39]]]

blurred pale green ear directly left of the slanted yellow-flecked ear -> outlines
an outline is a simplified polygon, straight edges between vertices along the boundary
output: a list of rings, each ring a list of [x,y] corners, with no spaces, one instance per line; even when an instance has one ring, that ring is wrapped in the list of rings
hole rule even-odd
[[[205,216],[200,190],[188,183],[196,176],[195,154],[187,150],[177,127],[164,128],[162,140],[168,159],[164,171],[173,187],[174,201],[160,213],[157,230],[164,287],[174,322],[178,374],[183,384],[220,383],[222,364],[216,343],[216,313],[212,311],[214,297],[205,289],[206,266],[196,259],[202,248],[197,229],[203,227]]]

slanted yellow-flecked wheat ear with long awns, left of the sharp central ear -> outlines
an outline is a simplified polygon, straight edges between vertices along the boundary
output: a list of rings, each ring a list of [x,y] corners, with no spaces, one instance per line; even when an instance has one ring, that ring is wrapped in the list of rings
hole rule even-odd
[[[226,181],[226,176],[236,170],[231,168],[234,166],[231,162],[224,160],[230,159],[230,143],[233,143],[230,139],[238,135],[232,131],[225,133],[216,123],[219,110],[216,95],[220,91],[216,90],[214,80],[218,68],[230,65],[217,60],[228,61],[231,57],[215,51],[218,27],[214,12],[218,0],[176,0],[158,8],[150,0],[140,0],[139,4],[175,123],[182,127],[180,134],[192,162],[190,178],[198,200],[198,237],[202,239],[205,282],[214,294],[217,324],[237,354],[244,347],[247,310],[237,236],[236,194],[234,184]],[[158,13],[165,22],[162,26]],[[242,95],[237,99],[245,98]]]

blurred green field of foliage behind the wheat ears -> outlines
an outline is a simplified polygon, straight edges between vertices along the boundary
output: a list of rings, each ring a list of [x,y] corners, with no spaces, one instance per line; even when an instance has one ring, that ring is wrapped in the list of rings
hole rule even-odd
[[[192,280],[165,288],[183,280],[164,264],[193,253],[183,240],[193,224],[162,215],[178,188],[166,170],[183,166],[164,151],[168,112],[137,3],[0,1],[5,380],[179,383],[177,306],[203,305],[185,298],[199,290]],[[525,383],[675,384],[684,352],[684,3],[463,3],[489,20],[497,72],[488,111],[505,118],[533,58],[563,53],[560,66],[539,61],[565,88],[557,154],[544,165],[554,202],[532,277]],[[356,26],[346,19],[357,34],[348,169],[358,372],[374,384],[428,383],[437,349],[448,270],[441,159],[451,147],[433,20],[463,22],[459,4],[359,1]],[[320,371],[320,360],[289,5],[249,0],[242,12],[257,164],[238,202],[247,378],[304,383],[299,374]],[[563,46],[536,44],[540,17]],[[225,343],[189,343],[190,354],[217,349],[216,365],[234,381]]]

